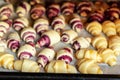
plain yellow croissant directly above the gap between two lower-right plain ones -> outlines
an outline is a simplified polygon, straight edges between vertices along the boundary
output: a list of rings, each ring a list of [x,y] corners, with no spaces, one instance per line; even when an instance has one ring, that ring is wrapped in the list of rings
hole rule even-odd
[[[104,36],[95,36],[92,38],[92,45],[96,49],[102,49],[108,47],[108,42]]]

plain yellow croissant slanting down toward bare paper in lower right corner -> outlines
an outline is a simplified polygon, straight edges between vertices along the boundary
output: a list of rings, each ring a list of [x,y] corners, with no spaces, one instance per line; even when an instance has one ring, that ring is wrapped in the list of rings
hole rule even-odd
[[[117,58],[112,49],[99,49],[98,54],[102,57],[102,62],[107,63],[110,66],[117,64]]]

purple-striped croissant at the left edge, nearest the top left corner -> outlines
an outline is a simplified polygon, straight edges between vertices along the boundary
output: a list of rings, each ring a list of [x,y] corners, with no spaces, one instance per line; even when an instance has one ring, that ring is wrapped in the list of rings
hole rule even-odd
[[[6,4],[0,8],[0,19],[6,20],[10,18],[13,14],[13,5],[12,4]]]

